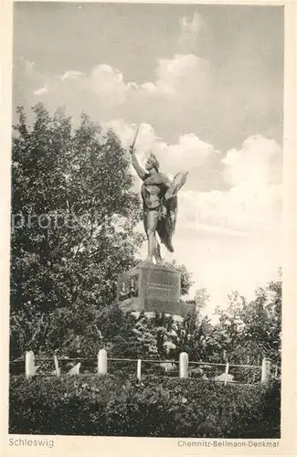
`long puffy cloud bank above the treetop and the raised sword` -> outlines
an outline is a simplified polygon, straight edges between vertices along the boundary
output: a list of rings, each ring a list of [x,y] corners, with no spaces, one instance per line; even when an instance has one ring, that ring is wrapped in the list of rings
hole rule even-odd
[[[65,106],[74,123],[80,122],[84,111],[98,122],[122,118],[127,123],[151,124],[167,143],[176,143],[186,133],[186,119],[195,119],[199,107],[207,103],[211,84],[207,60],[194,54],[160,58],[154,79],[142,83],[126,80],[120,69],[106,63],[89,72],[65,69],[45,74],[35,66],[28,69],[22,61],[15,73],[17,104],[29,107],[44,101],[50,111]],[[195,133],[195,123],[189,124],[187,133]]]

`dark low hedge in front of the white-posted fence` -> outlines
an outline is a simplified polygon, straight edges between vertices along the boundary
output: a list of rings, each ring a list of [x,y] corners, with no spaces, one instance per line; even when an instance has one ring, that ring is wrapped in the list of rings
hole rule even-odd
[[[170,377],[143,377],[141,384],[111,375],[12,377],[9,431],[244,438],[253,427],[261,438],[271,438],[265,427],[280,421],[279,393],[280,386],[223,386]]]

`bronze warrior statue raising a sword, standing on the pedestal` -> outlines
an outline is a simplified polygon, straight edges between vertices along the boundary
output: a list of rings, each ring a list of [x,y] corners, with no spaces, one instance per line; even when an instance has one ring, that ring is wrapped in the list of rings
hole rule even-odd
[[[138,131],[139,127],[130,147],[130,154],[133,167],[143,180],[143,226],[148,240],[146,260],[152,262],[154,257],[156,263],[161,264],[161,249],[155,233],[157,232],[167,250],[174,252],[172,237],[176,224],[177,192],[186,183],[187,172],[178,173],[171,181],[168,176],[160,173],[158,160],[153,153],[143,168],[134,151]]]

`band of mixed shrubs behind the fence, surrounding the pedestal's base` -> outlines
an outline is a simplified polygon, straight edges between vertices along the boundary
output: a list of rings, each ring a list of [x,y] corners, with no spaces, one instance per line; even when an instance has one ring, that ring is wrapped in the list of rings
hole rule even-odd
[[[277,285],[273,283],[269,287]],[[179,354],[186,351],[190,361],[222,363],[228,358],[233,364],[260,365],[266,354],[272,363],[279,364],[281,345],[275,345],[275,340],[271,339],[271,335],[278,335],[271,324],[271,320],[277,322],[275,314],[271,312],[270,320],[266,321],[266,326],[263,324],[267,333],[260,334],[260,339],[254,330],[260,314],[253,308],[253,302],[245,304],[241,299],[240,302],[233,300],[234,297],[238,294],[231,296],[230,308],[220,312],[218,324],[202,317],[199,310],[176,322],[165,314],[123,313],[117,303],[99,309],[77,303],[71,308],[58,308],[48,314],[47,319],[41,319],[42,314],[27,305],[20,320],[30,324],[18,324],[20,330],[12,336],[17,338],[15,345],[32,349],[37,355],[51,356],[53,351],[58,351],[62,356],[94,357],[101,347],[105,347],[110,356],[120,358],[177,360]],[[273,303],[269,304],[272,310],[277,304],[281,306],[279,302]],[[278,338],[276,341],[280,342],[280,336]],[[264,345],[267,352],[263,354]]]

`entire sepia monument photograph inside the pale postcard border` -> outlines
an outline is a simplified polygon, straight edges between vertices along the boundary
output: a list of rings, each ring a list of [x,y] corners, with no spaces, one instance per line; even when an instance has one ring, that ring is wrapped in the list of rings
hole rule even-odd
[[[12,84],[9,433],[278,447],[284,7],[15,2]]]

